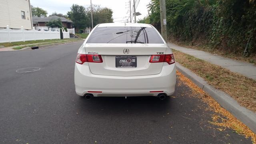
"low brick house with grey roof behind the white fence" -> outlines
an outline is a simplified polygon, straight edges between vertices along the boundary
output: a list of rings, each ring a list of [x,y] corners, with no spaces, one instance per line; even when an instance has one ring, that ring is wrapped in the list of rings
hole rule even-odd
[[[66,28],[72,28],[72,21],[60,16],[49,16],[49,17],[33,17],[33,26],[35,27],[45,27],[45,23],[50,20],[58,20],[60,18],[62,25]]]

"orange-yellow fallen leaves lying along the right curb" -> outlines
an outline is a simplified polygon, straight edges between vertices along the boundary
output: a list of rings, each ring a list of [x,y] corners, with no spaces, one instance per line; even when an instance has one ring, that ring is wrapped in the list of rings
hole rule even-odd
[[[236,133],[244,135],[246,138],[250,137],[252,139],[252,143],[256,144],[256,134],[254,134],[248,126],[236,119],[232,114],[230,114],[230,112],[222,108],[211,96],[178,71],[177,77],[182,84],[192,89],[192,93],[195,94],[194,96],[208,104],[207,110],[215,112],[215,114],[212,115],[212,121],[210,121],[210,123],[222,127],[217,128],[218,130],[222,131],[225,130],[225,128],[230,128]]]

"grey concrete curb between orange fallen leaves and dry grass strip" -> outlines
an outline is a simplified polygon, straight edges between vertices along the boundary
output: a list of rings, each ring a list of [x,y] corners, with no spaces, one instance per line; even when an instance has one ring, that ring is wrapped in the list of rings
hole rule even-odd
[[[238,120],[248,126],[254,133],[256,133],[256,114],[238,104],[231,96],[210,86],[203,78],[194,74],[188,68],[181,66],[176,62],[176,68],[179,72],[184,74],[187,78],[192,80],[197,86],[207,92],[214,100],[216,100],[220,106],[228,110]]]

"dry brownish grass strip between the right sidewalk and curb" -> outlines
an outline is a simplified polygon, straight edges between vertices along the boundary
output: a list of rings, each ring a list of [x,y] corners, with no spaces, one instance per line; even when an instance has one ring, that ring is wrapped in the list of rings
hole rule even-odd
[[[226,68],[210,64],[189,54],[172,50],[175,60],[204,78],[208,84],[220,89],[244,106],[256,112],[256,81]]]

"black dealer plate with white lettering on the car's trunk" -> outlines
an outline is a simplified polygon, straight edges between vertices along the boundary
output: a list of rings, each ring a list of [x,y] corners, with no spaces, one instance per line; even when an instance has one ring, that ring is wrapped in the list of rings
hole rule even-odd
[[[116,56],[116,68],[136,68],[137,56]]]

